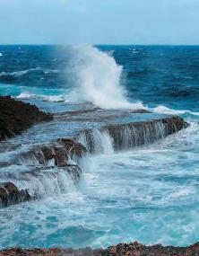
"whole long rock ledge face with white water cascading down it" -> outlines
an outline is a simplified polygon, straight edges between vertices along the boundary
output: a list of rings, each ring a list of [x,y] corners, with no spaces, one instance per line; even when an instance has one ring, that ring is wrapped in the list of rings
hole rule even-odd
[[[63,181],[66,181],[68,177],[74,183],[79,181],[82,172],[78,166],[79,159],[87,152],[109,154],[114,150],[149,145],[187,127],[186,121],[178,117],[152,119],[86,129],[80,131],[74,138],[59,138],[50,145],[37,146],[30,152],[22,154],[20,159],[15,160],[15,164],[23,167],[25,165],[31,169],[29,172],[24,171],[21,175],[17,175],[23,183],[24,190],[18,189],[14,183],[11,183],[13,181],[9,183],[9,188],[12,188],[12,190],[9,189],[11,192],[4,187],[4,184],[2,186],[0,184],[0,207],[41,198],[45,195],[55,195],[56,191],[65,193],[67,188]],[[7,177],[11,176],[11,173],[7,173]],[[6,178],[6,175],[4,177]],[[43,181],[49,181],[50,187],[43,184]]]

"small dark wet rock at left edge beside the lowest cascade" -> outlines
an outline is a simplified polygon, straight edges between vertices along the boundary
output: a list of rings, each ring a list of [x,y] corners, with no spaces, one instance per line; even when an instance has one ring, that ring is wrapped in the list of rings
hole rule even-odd
[[[0,183],[0,207],[8,207],[28,200],[30,200],[28,190],[19,190],[12,182]]]

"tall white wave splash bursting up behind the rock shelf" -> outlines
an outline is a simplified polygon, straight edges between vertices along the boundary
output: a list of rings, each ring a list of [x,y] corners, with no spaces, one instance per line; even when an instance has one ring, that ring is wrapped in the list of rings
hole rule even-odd
[[[108,53],[92,46],[72,48],[68,75],[75,102],[92,102],[103,109],[143,109],[141,102],[131,103],[120,84],[123,68]]]

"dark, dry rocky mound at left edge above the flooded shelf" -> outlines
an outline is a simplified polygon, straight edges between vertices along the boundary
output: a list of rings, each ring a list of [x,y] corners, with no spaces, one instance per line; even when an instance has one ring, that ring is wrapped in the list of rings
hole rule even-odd
[[[11,96],[0,96],[0,141],[20,134],[34,123],[52,118],[34,105],[16,101]]]

